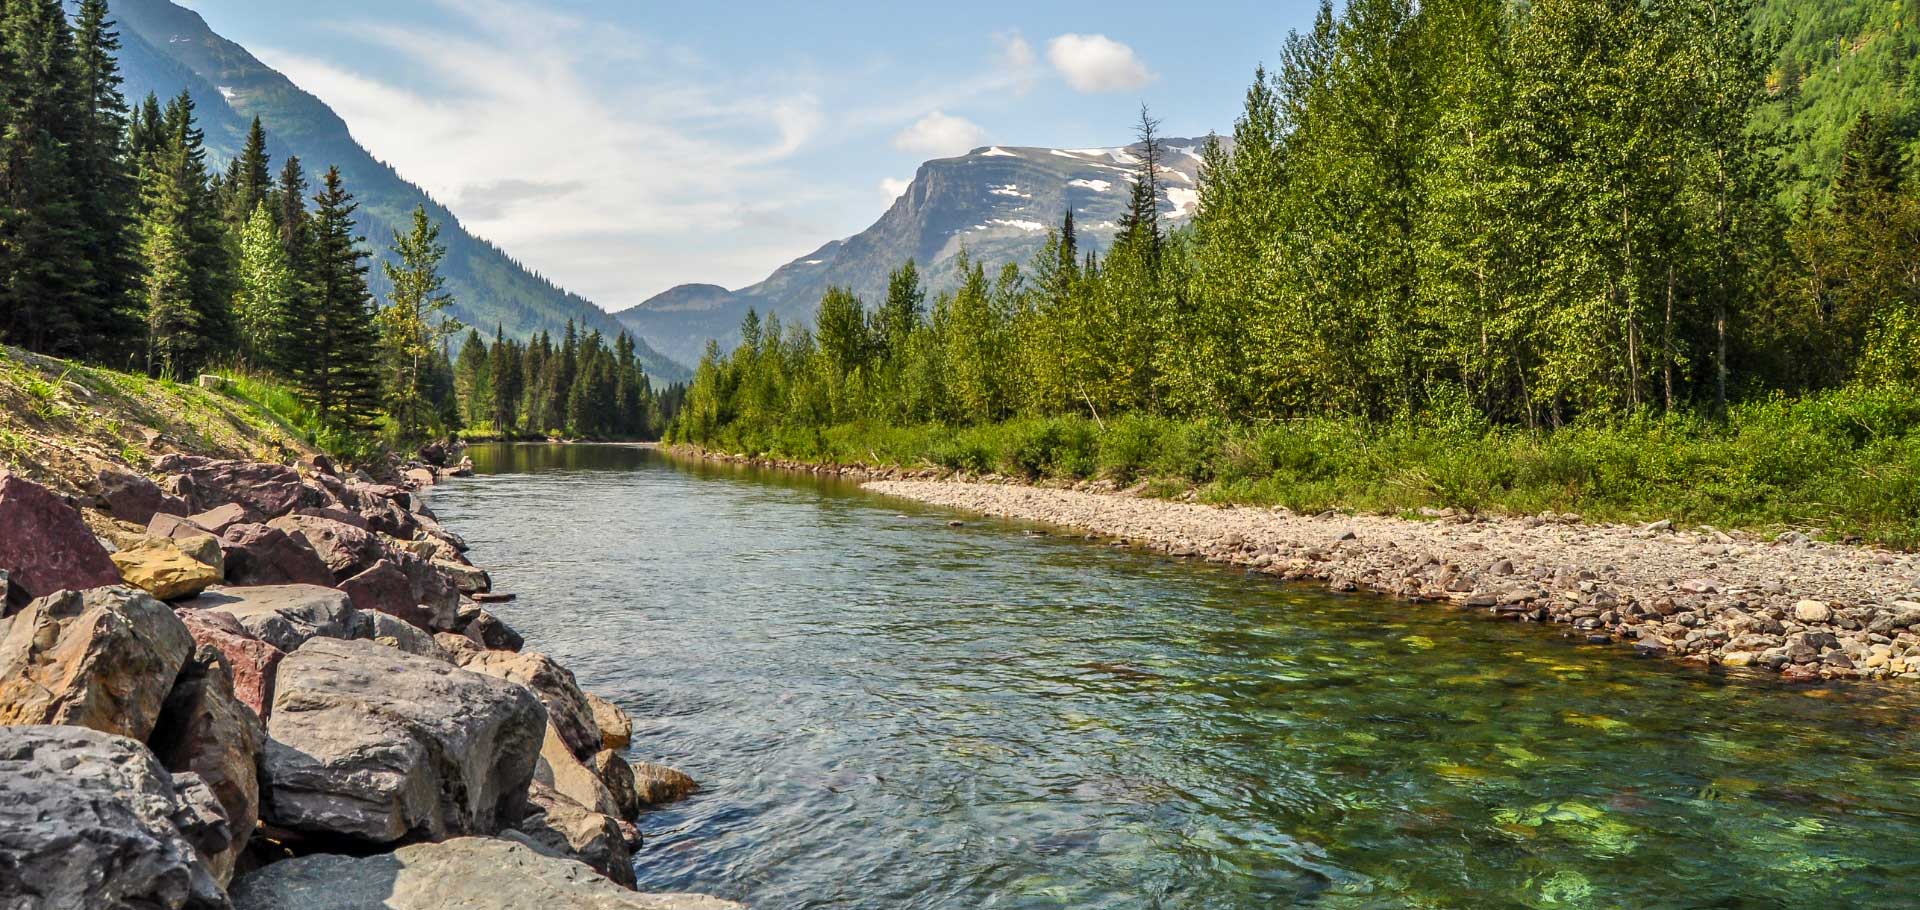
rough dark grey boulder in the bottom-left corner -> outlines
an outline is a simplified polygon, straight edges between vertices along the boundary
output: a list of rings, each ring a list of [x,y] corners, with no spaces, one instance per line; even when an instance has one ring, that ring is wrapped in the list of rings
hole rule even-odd
[[[0,728],[0,906],[227,908],[200,852],[221,841],[202,827],[205,797],[134,739]]]

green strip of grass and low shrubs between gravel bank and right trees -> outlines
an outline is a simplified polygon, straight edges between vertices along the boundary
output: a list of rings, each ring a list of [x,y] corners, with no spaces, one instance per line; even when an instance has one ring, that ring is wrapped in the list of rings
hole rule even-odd
[[[703,443],[812,463],[1150,482],[1150,491],[1302,513],[1553,511],[1920,547],[1920,397],[1905,390],[1776,397],[1738,405],[1726,420],[1647,415],[1555,432],[1121,417],[733,430]]]

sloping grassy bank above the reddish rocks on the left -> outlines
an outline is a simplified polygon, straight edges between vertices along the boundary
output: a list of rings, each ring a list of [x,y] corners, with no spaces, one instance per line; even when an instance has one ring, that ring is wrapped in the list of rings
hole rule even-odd
[[[246,397],[0,347],[0,468],[79,491],[100,467],[146,470],[173,451],[255,461],[313,453]]]

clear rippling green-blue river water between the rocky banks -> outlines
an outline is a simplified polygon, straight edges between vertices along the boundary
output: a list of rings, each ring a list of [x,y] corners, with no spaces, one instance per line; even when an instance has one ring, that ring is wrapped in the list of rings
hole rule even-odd
[[[703,791],[643,891],[755,910],[1920,906],[1920,697],[687,465],[432,493],[528,647]]]

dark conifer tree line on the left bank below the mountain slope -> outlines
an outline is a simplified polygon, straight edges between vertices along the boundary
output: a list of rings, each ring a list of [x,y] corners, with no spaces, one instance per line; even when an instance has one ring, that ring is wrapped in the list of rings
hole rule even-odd
[[[129,108],[117,52],[106,0],[73,19],[61,0],[0,0],[0,340],[161,378],[267,374],[338,440],[422,440],[492,407],[457,382],[463,326],[424,207],[394,234],[380,263],[392,290],[376,299],[336,167],[317,188],[300,157],[275,173],[255,119],[215,171],[192,96]],[[632,338],[609,349],[595,332],[576,351],[568,330],[563,351],[520,347],[543,351],[524,369],[530,430],[637,436],[657,422]]]

